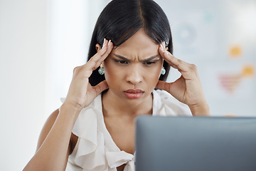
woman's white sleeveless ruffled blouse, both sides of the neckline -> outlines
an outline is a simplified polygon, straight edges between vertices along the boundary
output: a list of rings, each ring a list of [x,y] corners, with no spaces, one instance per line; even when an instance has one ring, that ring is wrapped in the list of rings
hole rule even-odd
[[[191,116],[191,111],[166,91],[154,90],[153,115]],[[124,164],[124,171],[135,170],[134,155],[121,151],[107,131],[101,95],[81,111],[73,134],[78,136],[78,142],[68,157],[66,171],[116,171]]]

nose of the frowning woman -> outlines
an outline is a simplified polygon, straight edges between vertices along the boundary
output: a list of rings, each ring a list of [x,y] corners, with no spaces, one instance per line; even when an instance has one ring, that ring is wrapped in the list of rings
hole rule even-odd
[[[137,85],[138,83],[142,82],[142,78],[143,78],[142,66],[134,64],[133,66],[130,66],[130,68],[127,70],[127,77],[126,77],[127,83]]]

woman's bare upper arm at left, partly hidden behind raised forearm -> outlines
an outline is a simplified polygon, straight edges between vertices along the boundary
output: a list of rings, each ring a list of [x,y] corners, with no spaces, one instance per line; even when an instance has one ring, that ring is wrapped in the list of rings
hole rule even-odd
[[[41,147],[41,145],[43,144],[43,141],[46,139],[48,133],[50,132],[50,129],[53,127],[55,120],[58,117],[58,114],[59,114],[59,110],[57,109],[52,114],[50,114],[50,116],[46,120],[46,123],[43,125],[41,134],[38,138],[38,145],[36,147],[36,151]],[[78,137],[72,133],[70,137],[70,145],[68,149],[70,154],[71,152],[73,152],[73,149],[77,141],[78,141]]]

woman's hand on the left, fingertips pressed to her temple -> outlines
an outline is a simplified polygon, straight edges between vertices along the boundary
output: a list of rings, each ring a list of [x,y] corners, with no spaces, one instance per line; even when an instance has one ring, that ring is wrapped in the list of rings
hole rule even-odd
[[[82,110],[92,103],[92,101],[108,88],[107,82],[102,81],[97,86],[91,86],[89,77],[92,71],[97,69],[100,64],[107,58],[113,48],[113,43],[104,39],[102,49],[98,51],[95,56],[92,56],[83,66],[74,68],[73,78],[70,83],[68,95],[63,104],[72,105],[75,108]]]

